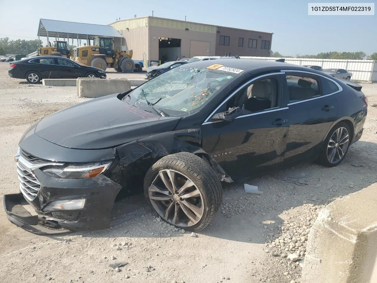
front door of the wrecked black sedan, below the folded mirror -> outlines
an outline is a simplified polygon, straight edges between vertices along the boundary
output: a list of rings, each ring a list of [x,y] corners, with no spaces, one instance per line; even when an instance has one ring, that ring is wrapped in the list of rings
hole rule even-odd
[[[282,165],[290,125],[286,104],[280,73],[250,80],[230,94],[211,117],[245,105],[241,115],[232,121],[210,117],[202,124],[202,148],[234,180]]]

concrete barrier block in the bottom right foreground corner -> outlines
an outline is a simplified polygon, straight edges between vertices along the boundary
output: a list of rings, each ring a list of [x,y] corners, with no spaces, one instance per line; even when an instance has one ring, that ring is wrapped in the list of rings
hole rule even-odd
[[[309,234],[302,283],[377,282],[377,183],[330,203]]]

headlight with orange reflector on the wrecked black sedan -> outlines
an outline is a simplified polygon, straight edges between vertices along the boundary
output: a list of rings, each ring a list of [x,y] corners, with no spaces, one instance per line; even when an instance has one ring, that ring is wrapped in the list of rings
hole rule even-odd
[[[64,179],[83,179],[97,177],[109,168],[111,162],[107,163],[92,163],[86,165],[69,165],[69,166],[54,166],[41,169],[47,175],[54,178]]]

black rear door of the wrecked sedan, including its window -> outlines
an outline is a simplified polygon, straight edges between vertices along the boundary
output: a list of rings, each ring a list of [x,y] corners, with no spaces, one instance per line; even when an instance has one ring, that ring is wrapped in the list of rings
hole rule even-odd
[[[337,120],[339,91],[333,80],[303,71],[286,71],[290,129],[284,164],[289,165],[319,153],[322,140]]]

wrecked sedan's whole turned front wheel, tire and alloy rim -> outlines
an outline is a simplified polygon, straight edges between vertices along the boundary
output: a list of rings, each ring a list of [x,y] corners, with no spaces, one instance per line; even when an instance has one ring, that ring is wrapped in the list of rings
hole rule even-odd
[[[163,220],[189,231],[207,227],[222,200],[216,172],[202,158],[188,152],[158,160],[146,173],[144,193]]]

